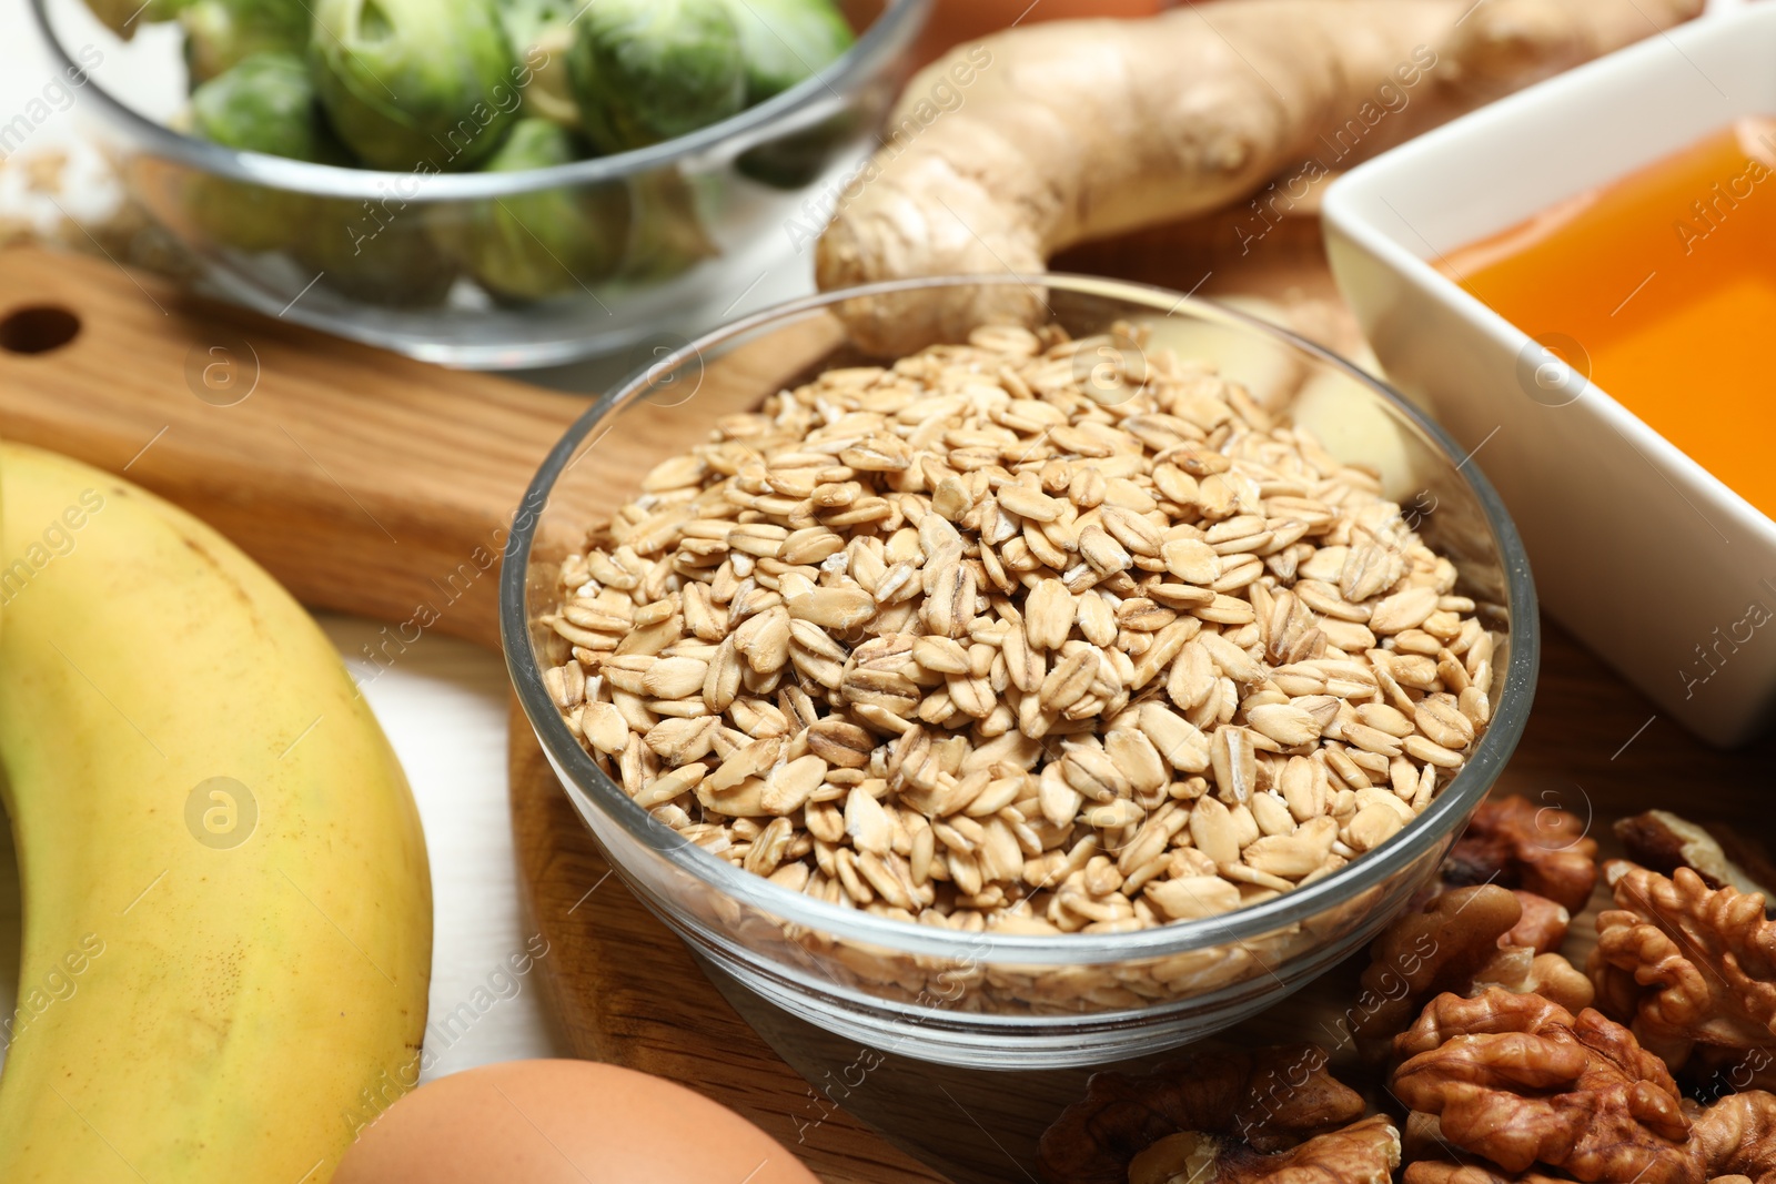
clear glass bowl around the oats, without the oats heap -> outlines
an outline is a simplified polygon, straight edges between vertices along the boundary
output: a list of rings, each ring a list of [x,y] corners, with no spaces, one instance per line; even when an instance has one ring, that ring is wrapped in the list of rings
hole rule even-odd
[[[1387,843],[1273,900],[1126,934],[968,934],[877,918],[792,893],[710,856],[634,804],[561,721],[542,671],[565,643],[540,623],[558,564],[666,456],[705,442],[721,415],[860,360],[835,307],[957,286],[996,307],[1035,293],[1074,337],[1117,321],[1209,357],[1268,407],[1289,405],[1460,572],[1495,637],[1492,724],[1440,795]],[[957,293],[947,293],[957,295]],[[980,307],[980,305],[977,305]],[[829,293],[744,318],[604,396],[563,437],[519,508],[501,577],[506,662],[568,797],[629,888],[694,953],[829,1031],[968,1067],[1087,1065],[1225,1028],[1359,950],[1423,888],[1504,769],[1529,717],[1536,596],[1517,529],[1492,486],[1435,424],[1375,378],[1280,328],[1176,293],[1085,277],[954,277]]]

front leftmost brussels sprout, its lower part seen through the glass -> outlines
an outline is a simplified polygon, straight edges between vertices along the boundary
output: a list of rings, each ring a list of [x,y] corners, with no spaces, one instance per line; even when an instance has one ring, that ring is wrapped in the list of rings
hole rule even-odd
[[[321,121],[307,66],[295,53],[258,53],[197,87],[190,131],[224,147],[348,163]],[[192,174],[185,204],[188,217],[215,241],[240,250],[277,250],[302,234],[311,199]]]

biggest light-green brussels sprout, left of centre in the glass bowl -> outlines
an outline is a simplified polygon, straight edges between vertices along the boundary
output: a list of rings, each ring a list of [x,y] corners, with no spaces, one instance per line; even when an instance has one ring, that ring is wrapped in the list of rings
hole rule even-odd
[[[377,169],[471,169],[522,98],[494,0],[314,0],[309,62],[339,138]]]

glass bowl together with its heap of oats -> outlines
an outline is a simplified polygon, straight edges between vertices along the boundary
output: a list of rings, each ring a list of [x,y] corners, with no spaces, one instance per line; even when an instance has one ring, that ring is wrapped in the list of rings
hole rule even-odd
[[[900,359],[845,330],[966,286],[1041,323]],[[1183,1044],[1359,950],[1538,662],[1517,531],[1423,414],[1236,311],[1062,275],[661,357],[543,463],[501,595],[561,785],[705,966],[975,1067]]]

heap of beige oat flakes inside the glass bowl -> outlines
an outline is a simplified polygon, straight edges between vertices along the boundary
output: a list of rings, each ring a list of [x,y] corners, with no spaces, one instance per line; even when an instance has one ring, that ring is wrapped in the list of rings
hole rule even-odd
[[[543,618],[574,735],[716,857],[964,932],[1218,916],[1392,838],[1492,714],[1455,566],[1204,366],[1124,350],[1110,401],[1074,348],[989,327],[828,371],[655,465]],[[924,982],[824,941],[872,989]]]

